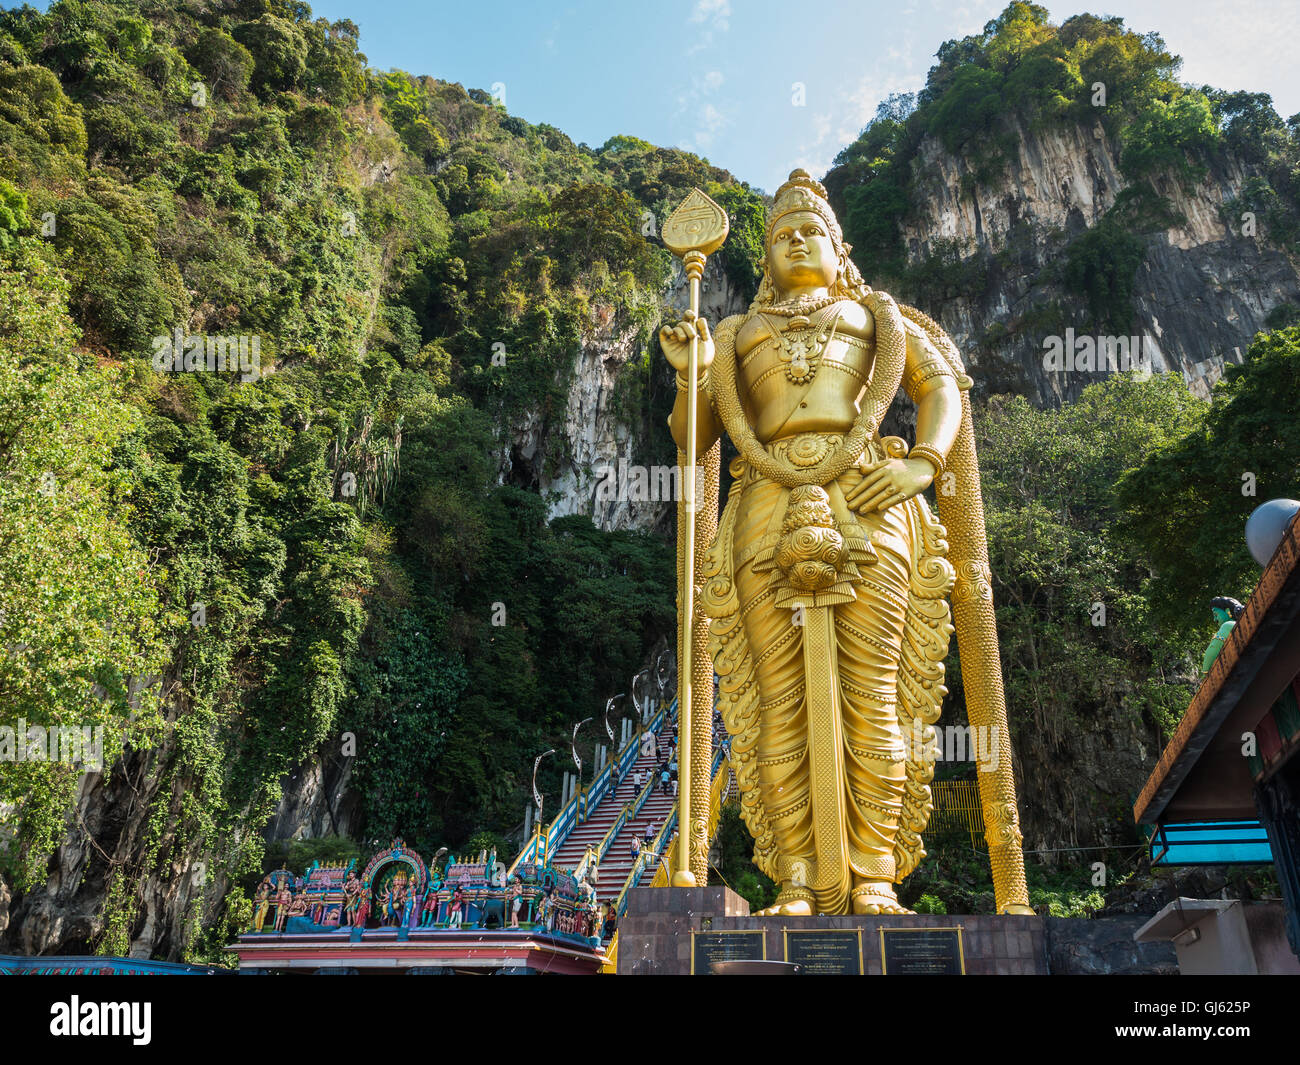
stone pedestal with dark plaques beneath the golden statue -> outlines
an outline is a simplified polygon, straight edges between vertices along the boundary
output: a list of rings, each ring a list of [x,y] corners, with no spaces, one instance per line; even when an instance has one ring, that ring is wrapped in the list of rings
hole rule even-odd
[[[961,928],[968,975],[1046,975],[1040,917],[909,914],[902,917],[751,917],[724,887],[636,888],[619,926],[619,975],[689,975],[692,932],[760,931],[770,961],[785,957],[786,931],[861,931],[864,975],[880,975],[880,930]]]

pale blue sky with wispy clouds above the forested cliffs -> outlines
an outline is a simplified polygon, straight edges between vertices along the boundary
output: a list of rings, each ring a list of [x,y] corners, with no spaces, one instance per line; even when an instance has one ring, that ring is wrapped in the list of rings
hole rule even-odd
[[[597,147],[625,133],[689,148],[775,187],[793,166],[823,173],[890,92],[924,85],[939,46],[978,33],[1005,0],[945,4],[775,0],[317,0],[351,18],[372,66],[467,88],[502,83],[506,107]],[[1269,92],[1300,112],[1294,0],[1049,4],[1053,22],[1092,10],[1160,33],[1196,85]],[[794,83],[805,103],[794,104]]]

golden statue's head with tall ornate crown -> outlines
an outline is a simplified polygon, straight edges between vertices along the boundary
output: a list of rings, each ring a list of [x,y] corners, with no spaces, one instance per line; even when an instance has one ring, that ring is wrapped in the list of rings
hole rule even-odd
[[[767,216],[763,281],[751,309],[815,290],[858,299],[866,286],[850,251],[826,189],[807,170],[792,170]]]

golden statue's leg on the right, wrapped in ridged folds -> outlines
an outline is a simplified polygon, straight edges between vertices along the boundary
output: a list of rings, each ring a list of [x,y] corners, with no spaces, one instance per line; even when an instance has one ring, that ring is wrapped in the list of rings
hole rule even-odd
[[[897,700],[910,560],[900,554],[906,525],[894,515],[864,524],[898,537],[898,545],[878,542],[878,562],[861,567],[857,601],[836,607],[852,904],[854,913],[904,913],[893,891],[893,852],[907,779]]]

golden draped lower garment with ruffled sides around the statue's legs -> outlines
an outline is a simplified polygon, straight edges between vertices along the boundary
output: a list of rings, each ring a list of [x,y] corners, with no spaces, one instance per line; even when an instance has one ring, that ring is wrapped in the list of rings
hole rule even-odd
[[[715,360],[734,360],[742,321],[736,316],[718,326]],[[802,433],[771,442],[767,451],[800,463],[842,438]],[[901,442],[878,434],[864,458],[901,454],[893,445]],[[818,912],[848,913],[854,879],[898,882],[924,854],[931,726],[945,693],[942,661],[952,633],[946,596],[953,571],[944,558],[944,529],[920,497],[884,511],[850,511],[845,494],[862,480],[862,471],[850,467],[822,485],[846,560],[832,586],[801,596],[774,559],[792,488],[742,458],[732,462],[731,475],[727,507],[703,562],[701,609],[711,619],[710,650],[742,817],[759,869],[780,883],[807,884]],[[842,727],[833,779],[844,788],[845,810],[836,840],[818,839],[815,827],[816,801],[841,797],[814,796],[814,787],[835,784],[826,766],[815,780],[810,772],[809,628],[792,610],[798,603],[833,616],[828,657]],[[824,677],[822,672],[811,683],[824,684]],[[818,858],[832,853],[836,873],[828,879]]]

